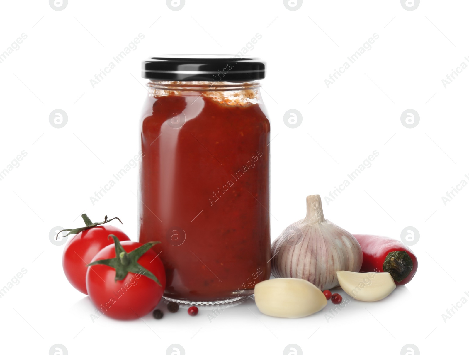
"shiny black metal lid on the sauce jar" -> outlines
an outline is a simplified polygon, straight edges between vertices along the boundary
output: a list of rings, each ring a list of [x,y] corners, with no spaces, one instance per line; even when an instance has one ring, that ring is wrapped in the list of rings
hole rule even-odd
[[[265,77],[265,62],[224,54],[174,54],[142,63],[142,77],[178,81],[252,81]]]

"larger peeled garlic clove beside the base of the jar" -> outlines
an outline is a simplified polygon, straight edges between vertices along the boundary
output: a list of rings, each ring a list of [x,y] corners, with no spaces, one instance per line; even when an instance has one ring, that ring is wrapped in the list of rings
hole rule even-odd
[[[324,293],[300,278],[273,278],[254,287],[257,308],[267,316],[300,318],[323,309]]]

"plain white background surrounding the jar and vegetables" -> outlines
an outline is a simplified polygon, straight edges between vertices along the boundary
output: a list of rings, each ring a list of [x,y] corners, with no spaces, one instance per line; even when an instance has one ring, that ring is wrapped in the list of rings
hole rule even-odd
[[[27,156],[0,181],[0,287],[22,268],[21,282],[0,299],[2,353],[48,354],[422,354],[450,353],[467,336],[469,304],[445,321],[467,283],[469,187],[442,196],[469,173],[469,69],[445,88],[442,79],[466,62],[467,1],[422,1],[408,11],[399,0],[305,1],[291,11],[281,0],[187,0],[171,10],[163,0],[3,1],[0,53],[27,35],[0,64],[0,170]],[[139,33],[144,39],[93,88],[90,79]],[[401,238],[415,227],[416,277],[383,301],[350,302],[326,320],[331,303],[301,319],[261,314],[252,299],[209,321],[185,311],[132,322],[101,316],[70,286],[56,226],[119,216],[136,240],[137,169],[94,205],[90,196],[138,151],[138,122],[146,95],[141,61],[170,53],[234,54],[259,33],[248,55],[267,61],[263,98],[271,126],[272,240],[305,215],[305,197],[323,197],[325,217],[352,233]],[[372,35],[377,39],[329,88],[325,79]],[[469,62],[466,62],[469,64]],[[314,100],[313,100],[314,98]],[[63,128],[49,123],[60,108]],[[287,127],[288,109],[303,122]],[[408,109],[415,128],[401,123]],[[374,150],[379,156],[327,204],[325,196]],[[345,295],[342,291],[339,291]],[[410,351],[410,350],[409,350]],[[405,352],[404,352],[405,353]],[[418,354],[415,351],[415,354]]]

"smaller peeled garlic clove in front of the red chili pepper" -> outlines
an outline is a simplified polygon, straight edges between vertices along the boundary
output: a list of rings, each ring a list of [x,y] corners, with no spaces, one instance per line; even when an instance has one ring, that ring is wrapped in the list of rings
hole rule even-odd
[[[358,301],[379,301],[396,288],[389,272],[337,271],[340,287]]]

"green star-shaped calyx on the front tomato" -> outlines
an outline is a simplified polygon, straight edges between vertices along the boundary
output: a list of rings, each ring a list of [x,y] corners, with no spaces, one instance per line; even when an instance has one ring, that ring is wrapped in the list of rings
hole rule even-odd
[[[107,237],[114,239],[115,245],[115,252],[116,256],[112,259],[103,259],[103,260],[96,260],[95,262],[91,262],[88,266],[92,265],[107,265],[111,268],[116,270],[116,276],[114,281],[123,280],[129,272],[133,272],[134,274],[144,275],[147,278],[152,279],[155,281],[159,286],[161,283],[159,282],[158,278],[151,273],[150,270],[145,269],[142,265],[138,263],[138,259],[142,255],[144,255],[148,250],[151,249],[155,244],[160,243],[159,241],[145,243],[141,247],[138,247],[132,250],[130,253],[127,253],[124,248],[121,246],[121,242],[117,237],[113,234],[109,234]],[[163,286],[161,286],[163,287]]]

